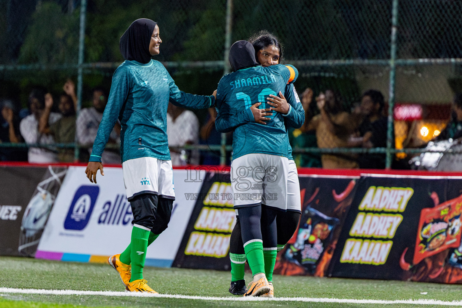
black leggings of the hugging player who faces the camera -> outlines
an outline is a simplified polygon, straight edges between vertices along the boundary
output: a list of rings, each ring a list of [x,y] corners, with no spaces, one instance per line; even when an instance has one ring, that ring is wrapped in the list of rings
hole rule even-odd
[[[293,233],[298,227],[298,221],[301,214],[294,211],[278,211],[276,215],[276,229],[277,229],[277,244],[286,245],[293,236]],[[263,244],[265,242],[263,241]],[[241,235],[241,222],[237,216],[236,225],[231,233],[230,239],[230,253],[231,254],[245,254],[243,238]],[[265,247],[265,246],[264,246]],[[274,246],[273,246],[274,247]]]

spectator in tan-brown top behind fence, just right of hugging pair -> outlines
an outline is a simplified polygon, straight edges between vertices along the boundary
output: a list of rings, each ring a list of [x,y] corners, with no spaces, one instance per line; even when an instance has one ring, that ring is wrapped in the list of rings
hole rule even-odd
[[[313,116],[310,109],[305,110],[305,123],[302,132],[316,131],[319,148],[345,148],[351,146],[349,138],[358,127],[359,119],[342,109],[340,96],[326,90],[316,97],[319,115]],[[348,153],[322,154],[322,168],[358,168],[356,157]]]

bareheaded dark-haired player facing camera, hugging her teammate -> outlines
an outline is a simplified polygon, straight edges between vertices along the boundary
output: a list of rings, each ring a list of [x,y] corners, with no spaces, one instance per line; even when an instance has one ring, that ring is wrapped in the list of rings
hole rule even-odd
[[[261,64],[261,66],[267,67],[279,64],[282,59],[282,47],[278,39],[267,31],[261,31],[256,36],[253,36],[249,40],[255,48],[255,59]],[[272,113],[273,109],[283,111],[283,109],[292,109],[289,112],[292,113],[292,117],[284,117],[284,123],[286,126],[286,131],[288,127],[299,128],[303,125],[305,115],[304,109],[300,100],[298,99],[297,91],[295,91],[293,83],[288,83],[284,95],[280,93],[281,97],[274,95],[270,96],[270,102],[267,104],[271,106],[265,111],[267,113]],[[261,103],[258,103],[261,104]],[[286,106],[284,106],[286,105]],[[289,107],[290,106],[290,107]],[[253,107],[257,108],[257,106]],[[262,110],[262,109],[259,109]],[[254,109],[255,112],[255,109]],[[254,116],[255,118],[255,116]],[[255,118],[256,119],[256,118]],[[265,118],[261,117],[265,120]],[[235,128],[239,125],[247,123],[246,119],[235,119],[243,120],[242,122],[234,122],[235,125],[232,128]],[[254,120],[254,119],[251,119]],[[231,123],[231,121],[229,122]],[[230,127],[231,128],[231,127]],[[288,138],[288,136],[287,136]],[[284,248],[285,244],[290,240],[293,233],[298,227],[298,221],[301,215],[300,211],[300,186],[298,182],[298,173],[297,166],[293,161],[292,157],[292,147],[289,145],[288,148],[288,158],[289,158],[289,170],[287,177],[287,209],[286,211],[278,211],[276,216],[276,229],[277,229],[277,251],[280,251]],[[272,276],[274,265],[272,265],[269,260],[271,260],[271,254],[274,254],[273,251],[264,250],[265,257],[265,274],[267,279],[272,286]],[[244,281],[244,264],[245,264],[245,252],[243,249],[243,242],[241,236],[241,224],[239,221],[239,216],[237,216],[237,222],[234,226],[234,229],[231,233],[230,239],[230,259],[231,259],[231,285],[229,291],[231,294],[239,295],[243,294],[246,291],[245,281]],[[266,262],[268,260],[268,262]],[[268,292],[263,296],[274,296],[273,290]]]

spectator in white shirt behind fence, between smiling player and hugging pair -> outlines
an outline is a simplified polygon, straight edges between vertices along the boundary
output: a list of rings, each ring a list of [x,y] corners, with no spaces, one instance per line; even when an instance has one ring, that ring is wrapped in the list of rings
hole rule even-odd
[[[167,109],[167,136],[169,146],[197,145],[199,143],[199,120],[194,112],[169,103]],[[199,152],[170,150],[173,166],[199,164]]]

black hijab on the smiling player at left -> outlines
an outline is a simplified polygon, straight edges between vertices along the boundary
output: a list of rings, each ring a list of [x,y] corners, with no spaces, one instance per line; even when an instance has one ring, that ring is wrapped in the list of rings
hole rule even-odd
[[[136,19],[130,24],[119,41],[120,52],[125,60],[135,60],[144,64],[151,61],[149,43],[156,24],[146,18]]]

